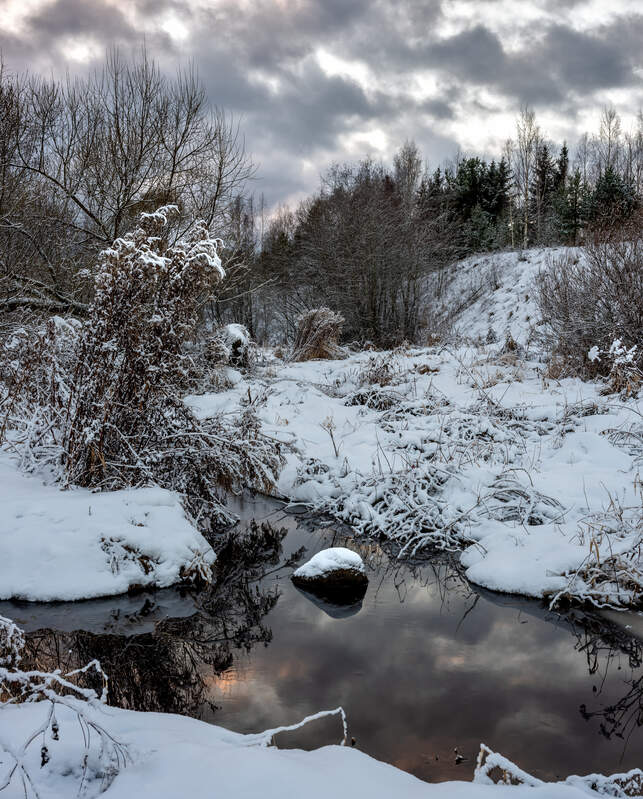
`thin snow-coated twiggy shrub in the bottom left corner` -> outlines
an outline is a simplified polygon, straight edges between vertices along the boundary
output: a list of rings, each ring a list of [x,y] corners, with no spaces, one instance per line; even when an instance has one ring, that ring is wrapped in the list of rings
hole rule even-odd
[[[127,765],[127,747],[116,740],[103,726],[100,714],[107,701],[107,676],[100,663],[93,660],[81,669],[63,673],[20,668],[25,637],[11,619],[0,616],[0,712],[3,707],[22,702],[38,703],[42,709],[40,724],[25,741],[0,740],[0,792],[13,783],[20,785],[26,796],[38,796],[34,771],[48,767],[59,755],[57,748],[65,737],[66,727],[73,721],[82,730],[83,748],[75,754],[75,762],[66,762],[63,769],[78,774],[80,796],[97,796],[112,783]],[[102,678],[99,696],[90,688],[78,685],[77,678],[95,671]],[[71,730],[70,730],[71,732]],[[39,757],[32,749],[40,748]],[[69,753],[64,755],[67,760]]]

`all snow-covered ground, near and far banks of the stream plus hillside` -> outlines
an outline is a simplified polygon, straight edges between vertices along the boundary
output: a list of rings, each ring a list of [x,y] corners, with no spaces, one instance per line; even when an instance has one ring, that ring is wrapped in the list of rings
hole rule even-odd
[[[276,493],[324,510],[358,534],[389,539],[410,554],[460,550],[469,579],[491,589],[627,605],[627,584],[597,572],[624,561],[640,573],[641,404],[603,396],[597,384],[547,377],[534,343],[532,281],[549,255],[461,265],[450,301],[475,281],[482,286],[456,320],[467,343],[339,361],[273,359],[245,376],[229,370],[232,388],[186,402],[201,417],[250,402],[265,432],[289,448]],[[519,349],[505,345],[508,333]],[[496,341],[481,343],[487,338]],[[178,496],[158,488],[60,491],[19,474],[0,453],[0,503],[2,598],[79,599],[167,586],[186,570],[207,573],[214,562]],[[21,751],[47,704],[2,707],[0,784],[11,752],[35,775],[43,799],[73,796],[89,728],[76,723],[71,706],[59,708],[60,736],[47,728]],[[270,735],[115,708],[105,708],[98,723],[131,758],[107,787],[114,799],[483,799],[499,790],[517,799],[574,799],[593,782],[527,780],[498,789],[482,777],[431,785],[346,746],[279,750],[266,747]],[[94,749],[87,761],[87,795],[101,788],[97,757]],[[502,759],[498,764],[502,769]],[[3,795],[24,795],[19,775]]]

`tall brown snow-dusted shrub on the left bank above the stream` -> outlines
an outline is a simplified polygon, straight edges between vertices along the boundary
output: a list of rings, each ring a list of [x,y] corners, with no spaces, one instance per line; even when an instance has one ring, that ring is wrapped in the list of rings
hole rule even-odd
[[[186,340],[224,272],[203,223],[168,241],[176,213],[141,214],[140,226],[101,254],[89,318],[73,335],[50,323],[45,334],[26,334],[15,358],[4,353],[0,435],[12,428],[27,459],[46,458],[67,484],[157,483],[200,515],[206,507],[205,519],[222,519],[217,490],[269,489],[281,454],[252,409],[202,422],[181,399],[199,376]]]

